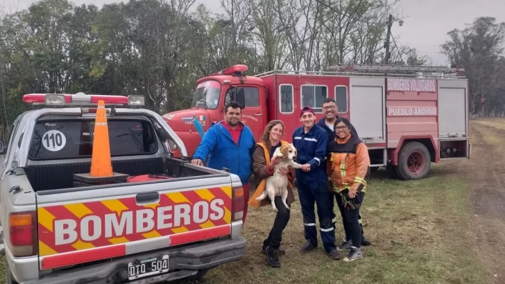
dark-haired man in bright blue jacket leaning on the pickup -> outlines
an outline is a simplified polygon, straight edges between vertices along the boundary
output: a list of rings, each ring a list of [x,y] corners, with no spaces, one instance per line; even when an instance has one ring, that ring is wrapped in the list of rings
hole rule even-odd
[[[253,151],[256,140],[249,127],[240,122],[242,109],[235,102],[225,106],[225,120],[216,123],[203,136],[195,150],[191,163],[216,170],[229,168],[230,172],[240,177],[243,186],[244,208],[242,221],[246,222],[249,178],[253,174]]]

